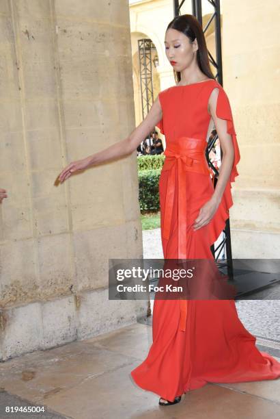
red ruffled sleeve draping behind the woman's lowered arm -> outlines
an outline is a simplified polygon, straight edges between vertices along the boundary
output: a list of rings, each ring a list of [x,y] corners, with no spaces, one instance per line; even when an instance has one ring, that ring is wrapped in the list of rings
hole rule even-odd
[[[229,175],[229,180],[225,186],[223,192],[223,197],[221,203],[214,214],[212,220],[210,220],[210,244],[213,244],[220,236],[223,229],[225,229],[225,222],[229,218],[229,208],[232,207],[232,182],[235,181],[236,176],[239,175],[236,168],[238,162],[240,161],[240,151],[238,147],[238,142],[236,138],[236,131],[234,128],[234,119],[232,117],[232,109],[229,104],[229,99],[225,90],[222,86],[218,84],[219,88],[218,99],[216,102],[216,116],[227,121],[227,133],[232,136],[232,142],[234,144],[234,163],[232,166],[232,171]]]

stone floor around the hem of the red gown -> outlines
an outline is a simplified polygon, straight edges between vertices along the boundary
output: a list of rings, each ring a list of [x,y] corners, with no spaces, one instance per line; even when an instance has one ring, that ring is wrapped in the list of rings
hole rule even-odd
[[[161,258],[158,230],[143,232],[144,257]],[[257,335],[261,350],[277,357],[277,303],[240,301],[238,315]],[[262,305],[263,304],[263,305]],[[265,306],[264,306],[265,304]],[[278,305],[279,307],[279,305]],[[152,344],[151,319],[96,338],[36,351],[0,364],[0,419],[278,419],[280,379],[236,384],[208,383],[181,403],[161,407],[158,396],[137,387],[130,371]],[[255,321],[254,321],[255,320]],[[279,321],[279,320],[278,320]],[[277,357],[280,361],[280,357]],[[5,407],[36,413],[5,413]]]

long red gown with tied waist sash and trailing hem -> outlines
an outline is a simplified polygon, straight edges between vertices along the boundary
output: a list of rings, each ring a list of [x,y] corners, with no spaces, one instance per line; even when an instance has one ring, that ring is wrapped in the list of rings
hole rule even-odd
[[[208,225],[192,224],[214,186],[205,157],[208,99],[219,88],[216,116],[227,120],[234,143],[234,164],[223,199]],[[232,206],[231,183],[240,160],[232,110],[214,79],[160,92],[165,163],[160,174],[160,228],[165,259],[213,258],[210,245],[225,228]],[[214,258],[213,258],[214,259]],[[173,401],[206,383],[236,383],[280,377],[280,363],[255,346],[255,336],[238,318],[234,300],[154,300],[153,343],[146,359],[130,372],[140,388]]]

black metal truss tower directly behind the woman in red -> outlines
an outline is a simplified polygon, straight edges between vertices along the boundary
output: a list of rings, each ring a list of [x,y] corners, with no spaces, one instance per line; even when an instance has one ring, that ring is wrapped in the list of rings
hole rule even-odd
[[[182,0],[179,2],[179,0],[173,0],[173,11],[174,16],[180,15],[180,10],[182,8],[182,5],[185,3],[186,0]],[[221,48],[221,12],[220,12],[220,0],[207,0],[208,3],[210,3],[213,8],[213,14],[210,17],[208,23],[203,28],[204,34],[206,33],[208,27],[210,26],[210,23],[214,19],[214,25],[215,25],[215,45],[216,45],[216,60],[212,57],[210,54],[210,51],[208,51],[209,60],[210,63],[216,68],[216,75],[215,78],[219,81],[219,84],[223,86],[223,65],[222,65],[222,48]],[[201,27],[203,26],[202,22],[202,5],[201,0],[191,0],[192,5],[192,14],[197,18],[199,23],[201,24]],[[216,138],[218,136],[214,136],[212,140],[209,140],[208,147],[206,149],[206,158],[208,160],[209,166],[212,168],[214,172],[214,187],[216,186],[217,178],[219,177],[219,171],[214,168],[212,162],[210,162],[209,159],[209,153],[214,147],[214,142],[216,141]],[[223,158],[223,151],[221,150],[221,159]],[[226,253],[226,266],[227,266],[227,273],[229,275],[229,279],[233,279],[233,263],[232,263],[232,242],[230,237],[230,225],[229,225],[229,218],[227,219],[225,223],[225,229],[223,230],[225,233],[225,238],[221,241],[221,243],[216,246],[216,249],[214,247],[214,244],[211,246],[212,255],[215,257],[215,259],[219,259],[219,256],[221,255],[221,251],[225,249]],[[217,253],[217,254],[216,254]],[[216,256],[215,256],[216,255]]]

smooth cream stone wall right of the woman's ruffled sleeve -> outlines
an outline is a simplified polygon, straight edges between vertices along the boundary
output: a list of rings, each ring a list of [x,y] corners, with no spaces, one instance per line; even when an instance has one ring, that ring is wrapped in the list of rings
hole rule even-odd
[[[241,154],[231,210],[235,257],[279,257],[277,11],[273,1],[223,1],[224,86]]]

